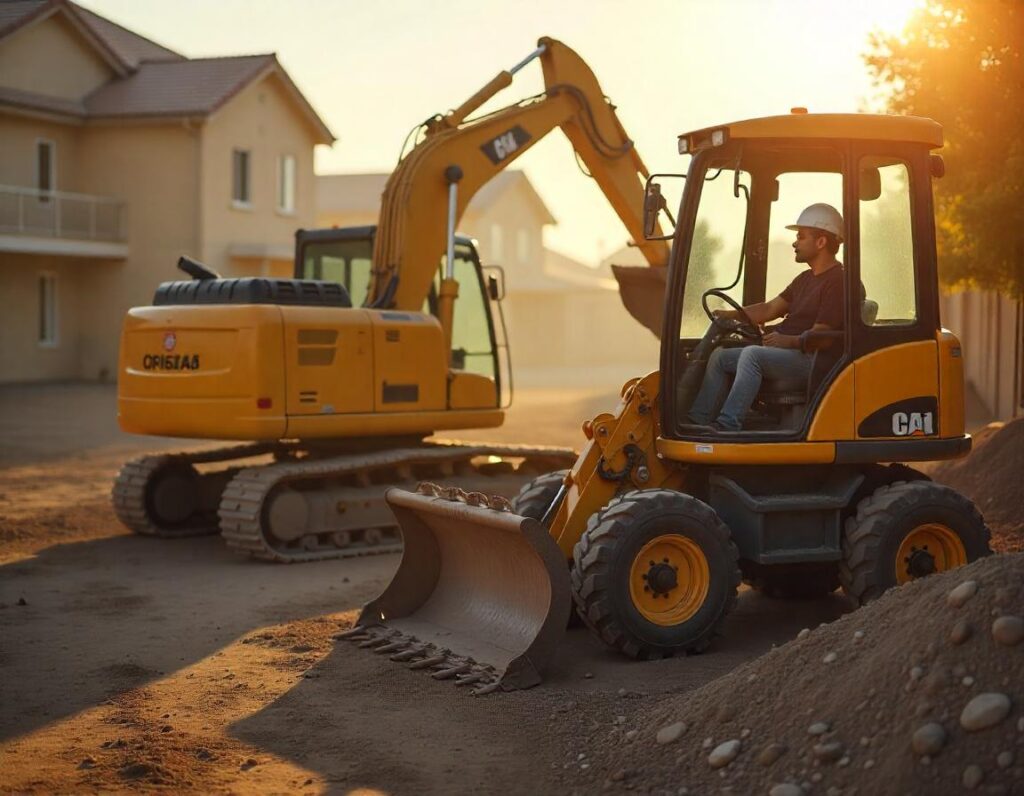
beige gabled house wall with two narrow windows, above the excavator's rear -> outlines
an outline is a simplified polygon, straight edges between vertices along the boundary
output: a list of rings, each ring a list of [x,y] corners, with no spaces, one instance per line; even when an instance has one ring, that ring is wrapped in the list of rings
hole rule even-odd
[[[246,87],[215,113],[203,130],[200,258],[225,275],[252,274],[251,258],[232,261],[232,244],[264,245],[291,251],[295,231],[315,222],[313,145],[316,140],[306,122],[281,87],[268,76]],[[232,151],[248,150],[251,172],[251,207],[231,201]],[[278,159],[295,158],[295,211],[278,209]],[[291,273],[286,262],[261,263],[258,274]]]

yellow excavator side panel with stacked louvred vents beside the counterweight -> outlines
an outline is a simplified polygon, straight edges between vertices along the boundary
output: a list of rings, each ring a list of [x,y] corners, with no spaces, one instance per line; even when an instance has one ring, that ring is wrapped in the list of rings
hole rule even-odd
[[[288,414],[374,411],[374,342],[370,312],[282,306]]]

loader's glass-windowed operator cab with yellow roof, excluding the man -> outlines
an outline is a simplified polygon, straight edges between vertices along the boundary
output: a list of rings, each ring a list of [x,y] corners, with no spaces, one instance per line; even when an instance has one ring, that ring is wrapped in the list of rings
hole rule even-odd
[[[742,429],[729,442],[811,438],[823,396],[852,363],[936,340],[931,178],[938,156],[931,150],[940,145],[941,132],[936,142],[927,125],[916,123],[934,125],[898,117],[804,115],[681,136],[680,150],[692,157],[677,214],[662,336],[663,389],[673,390],[662,402],[666,437],[700,436],[686,428],[686,413],[711,350],[755,344],[719,332],[709,344],[702,298],[718,289],[750,305],[779,295],[808,267],[795,261],[795,234],[785,227],[811,204],[827,203],[844,218],[836,255],[844,268],[844,327],[807,336],[809,378],[763,381]],[[708,308],[724,308],[719,300],[709,297]],[[853,397],[849,403],[848,417],[827,432],[834,431],[831,438],[859,435],[847,427],[856,415]],[[821,438],[821,422],[814,438]]]

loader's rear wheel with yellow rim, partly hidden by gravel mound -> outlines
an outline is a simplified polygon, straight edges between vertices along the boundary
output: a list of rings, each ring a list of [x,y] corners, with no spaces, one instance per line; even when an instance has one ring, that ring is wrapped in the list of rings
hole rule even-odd
[[[948,487],[901,481],[876,490],[846,521],[840,581],[858,602],[963,567],[992,551],[975,505]]]

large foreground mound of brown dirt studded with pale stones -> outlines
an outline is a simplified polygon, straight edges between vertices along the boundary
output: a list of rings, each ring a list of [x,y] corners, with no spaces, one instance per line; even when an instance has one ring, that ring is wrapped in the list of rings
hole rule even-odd
[[[1024,555],[893,589],[640,727],[591,751],[606,789],[1024,794]]]

